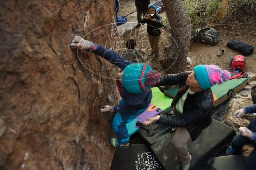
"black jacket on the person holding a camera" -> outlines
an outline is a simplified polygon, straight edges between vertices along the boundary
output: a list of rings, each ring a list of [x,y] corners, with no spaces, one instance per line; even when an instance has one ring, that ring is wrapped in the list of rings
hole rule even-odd
[[[163,26],[163,20],[162,17],[155,12],[155,19],[156,22],[151,21],[150,19],[146,20],[147,15],[144,16],[144,18],[141,20],[141,24],[144,25],[147,23],[147,32],[149,35],[157,37],[161,34],[161,31],[159,28]]]

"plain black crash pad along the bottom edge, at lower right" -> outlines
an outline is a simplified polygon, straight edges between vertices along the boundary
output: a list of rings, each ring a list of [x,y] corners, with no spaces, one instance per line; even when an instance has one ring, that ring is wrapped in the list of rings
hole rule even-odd
[[[248,170],[247,161],[249,155],[228,155],[215,157],[213,164],[204,165],[200,170]]]

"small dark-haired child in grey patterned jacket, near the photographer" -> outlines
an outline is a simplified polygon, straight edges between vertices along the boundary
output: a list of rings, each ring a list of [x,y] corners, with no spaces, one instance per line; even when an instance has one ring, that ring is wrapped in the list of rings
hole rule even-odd
[[[129,38],[126,42],[126,49],[124,49],[123,55],[124,58],[132,62],[138,63],[138,57],[142,62],[146,62],[141,53],[136,49],[136,40],[134,38]]]

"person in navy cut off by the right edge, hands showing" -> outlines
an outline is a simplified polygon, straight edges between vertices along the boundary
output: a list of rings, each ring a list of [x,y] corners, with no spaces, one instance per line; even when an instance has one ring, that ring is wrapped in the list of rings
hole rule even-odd
[[[234,119],[237,117],[241,118],[241,115],[244,113],[256,113],[256,104],[246,106],[243,109],[237,110],[234,113]],[[240,127],[239,128],[240,134],[233,138],[233,141],[229,148],[227,149],[226,153],[233,154],[235,151],[239,151],[244,147],[244,145],[253,144],[254,149],[249,155],[248,158],[248,168],[251,170],[256,169],[256,116],[251,120],[248,128]]]

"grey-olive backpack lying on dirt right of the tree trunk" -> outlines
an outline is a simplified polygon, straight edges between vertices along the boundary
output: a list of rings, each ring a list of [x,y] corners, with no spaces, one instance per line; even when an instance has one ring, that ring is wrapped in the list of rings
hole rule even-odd
[[[220,32],[214,28],[199,28],[195,32],[194,41],[200,44],[209,44],[211,46],[216,46],[220,41]]]

